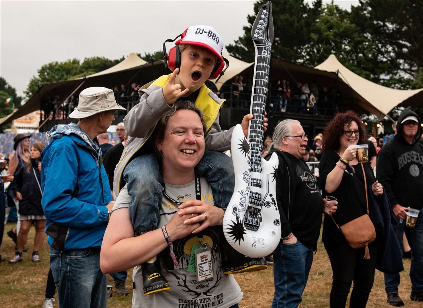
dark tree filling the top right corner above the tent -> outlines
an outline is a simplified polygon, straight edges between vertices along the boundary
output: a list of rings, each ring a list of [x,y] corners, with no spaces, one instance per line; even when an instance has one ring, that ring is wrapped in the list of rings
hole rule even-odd
[[[418,86],[423,67],[423,0],[360,0],[352,21],[371,46],[379,65],[378,83],[395,88]],[[421,79],[421,76],[420,76]]]

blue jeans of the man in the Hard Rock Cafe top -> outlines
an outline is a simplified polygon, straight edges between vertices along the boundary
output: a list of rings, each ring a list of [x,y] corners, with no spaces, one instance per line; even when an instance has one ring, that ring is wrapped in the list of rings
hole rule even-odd
[[[307,284],[313,262],[313,249],[305,247],[299,241],[288,245],[280,243],[273,260],[275,294],[272,308],[297,307]]]

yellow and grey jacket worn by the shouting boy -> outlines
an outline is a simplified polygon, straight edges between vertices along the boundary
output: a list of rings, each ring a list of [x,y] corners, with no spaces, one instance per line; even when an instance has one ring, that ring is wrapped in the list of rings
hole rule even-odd
[[[122,189],[121,180],[126,165],[140,150],[151,136],[157,121],[168,111],[170,106],[163,97],[162,87],[168,82],[169,75],[163,75],[147,89],[140,89],[140,103],[135,105],[124,118],[126,133],[130,136],[126,142],[124,152],[116,165],[113,176],[113,199]],[[211,151],[226,151],[231,147],[233,128],[222,132],[219,125],[219,109],[225,100],[220,99],[203,84],[195,100],[195,106],[204,113],[206,122],[205,149]]]

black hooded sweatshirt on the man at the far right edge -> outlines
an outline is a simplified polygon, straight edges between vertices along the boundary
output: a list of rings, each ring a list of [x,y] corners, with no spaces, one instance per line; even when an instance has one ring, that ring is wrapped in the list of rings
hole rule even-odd
[[[418,119],[418,130],[414,142],[409,144],[403,136],[402,120],[414,116]],[[385,187],[391,207],[423,207],[423,146],[418,142],[422,134],[421,120],[409,109],[401,112],[397,123],[397,134],[382,147],[376,162],[377,180]]]

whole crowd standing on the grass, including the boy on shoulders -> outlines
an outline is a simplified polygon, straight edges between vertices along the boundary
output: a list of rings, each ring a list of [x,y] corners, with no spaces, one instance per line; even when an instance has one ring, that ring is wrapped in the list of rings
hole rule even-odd
[[[223,152],[231,150],[233,128],[221,130],[223,100],[204,85],[223,69],[223,42],[197,32],[190,27],[176,42],[180,67],[140,91],[139,103],[117,125],[118,144],[109,145],[107,129],[115,112],[125,111],[118,102],[128,92],[104,87],[82,90],[68,115],[77,124],[53,127],[45,148],[30,147],[30,136],[15,137],[7,180],[19,218],[8,234],[16,236],[9,263],[22,261],[31,223],[34,262],[40,261],[40,232],[47,233],[50,271],[43,307],[53,307],[56,286],[60,308],[107,307],[106,274],[126,295],[126,271],[134,268],[134,308],[201,303],[237,308],[243,294],[234,275],[268,267],[264,256],[237,252],[223,234],[234,187],[232,160]],[[242,79],[236,83],[243,85]],[[247,114],[240,123],[245,137],[251,119]],[[301,303],[323,215],[331,307],[346,306],[351,286],[349,306],[365,307],[375,269],[385,273],[387,302],[404,305],[398,295],[403,233],[412,250],[410,299],[423,301],[421,135],[418,115],[402,111],[396,134],[375,155],[375,173],[373,154],[358,150],[373,142],[352,111],[336,114],[310,144],[299,121],[276,125],[263,153],[279,161],[274,199],[282,236],[273,253],[272,308]],[[306,159],[319,160],[317,175]]]

